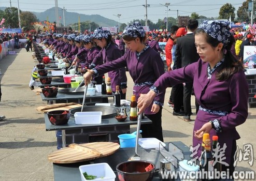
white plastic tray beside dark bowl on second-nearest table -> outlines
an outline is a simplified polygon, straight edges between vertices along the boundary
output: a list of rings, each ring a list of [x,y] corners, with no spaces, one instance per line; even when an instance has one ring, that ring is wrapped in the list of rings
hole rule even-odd
[[[77,125],[81,124],[101,124],[102,123],[102,112],[76,112],[75,123]]]

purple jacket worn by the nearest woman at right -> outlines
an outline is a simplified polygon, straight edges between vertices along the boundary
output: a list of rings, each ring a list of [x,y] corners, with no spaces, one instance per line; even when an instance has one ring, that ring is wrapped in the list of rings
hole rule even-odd
[[[216,72],[221,69],[221,66],[212,74],[211,79],[207,79],[207,66],[208,63],[199,59],[186,67],[164,73],[154,85],[160,92],[163,92],[166,87],[182,82],[193,82],[196,101],[201,107],[229,112],[221,116],[199,110],[193,131],[199,130],[209,120],[218,119],[222,132],[216,133],[214,129],[211,129],[210,138],[212,135],[218,135],[220,146],[223,147],[223,144],[226,144],[226,160],[223,161],[230,163],[232,141],[240,138],[236,126],[243,124],[248,116],[248,83],[243,70],[233,74],[227,81],[217,81]],[[192,131],[191,133],[193,134]],[[193,137],[193,146],[201,145],[201,143],[202,140]],[[200,155],[201,146],[196,156],[200,157]]]

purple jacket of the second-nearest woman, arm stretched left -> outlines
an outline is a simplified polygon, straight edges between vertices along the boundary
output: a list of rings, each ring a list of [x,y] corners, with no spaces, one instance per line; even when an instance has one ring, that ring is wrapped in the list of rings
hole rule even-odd
[[[148,48],[143,52],[139,59],[137,58],[136,52],[127,51],[121,58],[116,61],[106,63],[104,65],[96,67],[99,74],[106,73],[110,70],[114,70],[121,67],[127,67],[129,73],[135,84],[152,82],[154,83],[164,73],[164,63],[159,53],[153,49]],[[151,85],[141,85],[133,87],[133,94],[138,99],[139,94],[146,94],[149,92]],[[158,94],[154,101],[164,103],[165,90]],[[153,104],[153,102],[152,102]],[[145,114],[152,114],[152,104],[145,110]]]

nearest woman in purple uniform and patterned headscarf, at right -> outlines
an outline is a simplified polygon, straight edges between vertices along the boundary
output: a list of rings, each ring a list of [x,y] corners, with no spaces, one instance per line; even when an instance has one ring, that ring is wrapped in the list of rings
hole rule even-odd
[[[166,87],[182,82],[193,82],[200,109],[193,131],[193,147],[202,143],[203,133],[218,135],[220,147],[225,149],[222,171],[234,171],[236,140],[240,138],[236,126],[248,116],[248,83],[243,65],[232,55],[234,42],[229,21],[204,21],[195,33],[195,46],[200,59],[186,67],[166,72],[146,95],[138,100],[139,112],[151,103]],[[195,153],[201,155],[200,149]],[[227,164],[225,164],[227,163]]]

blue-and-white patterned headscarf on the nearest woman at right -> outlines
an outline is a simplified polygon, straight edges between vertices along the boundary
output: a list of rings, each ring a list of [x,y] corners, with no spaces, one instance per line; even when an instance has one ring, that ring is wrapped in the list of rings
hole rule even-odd
[[[203,29],[212,38],[223,43],[225,47],[226,44],[230,42],[231,37],[229,25],[229,21],[206,20],[200,26],[198,26],[198,29]]]

